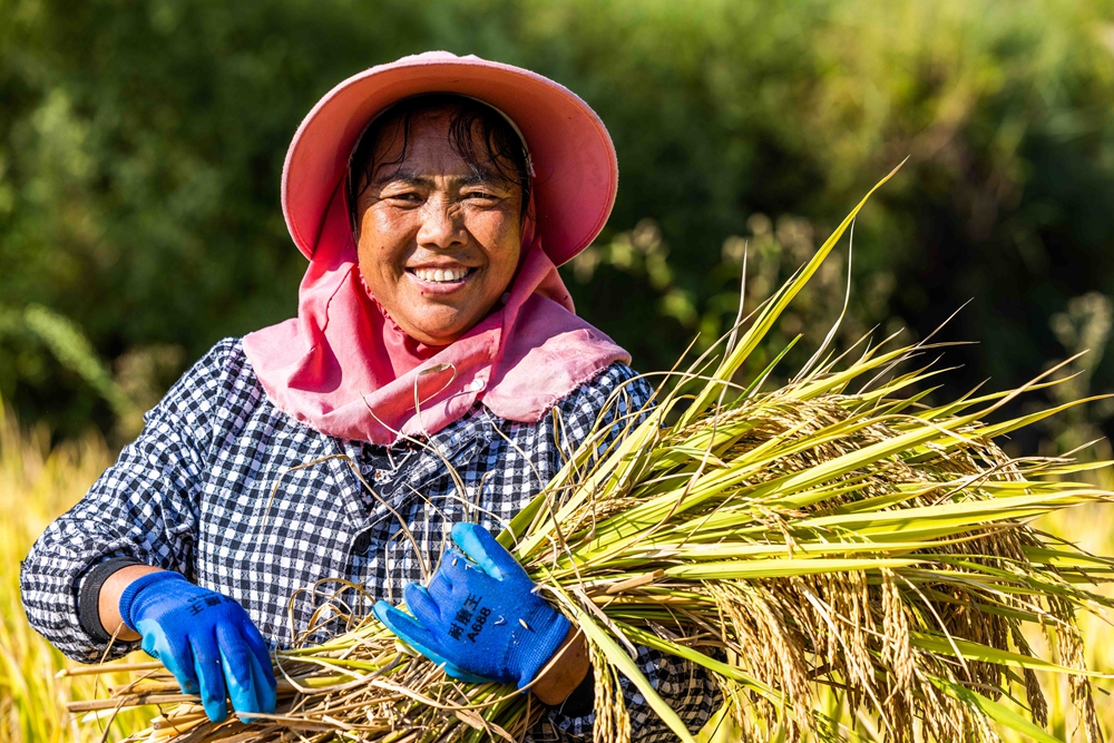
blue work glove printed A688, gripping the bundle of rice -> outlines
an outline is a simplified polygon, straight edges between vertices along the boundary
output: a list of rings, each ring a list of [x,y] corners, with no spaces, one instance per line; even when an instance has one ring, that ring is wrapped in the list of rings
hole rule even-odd
[[[529,684],[568,634],[569,622],[540,596],[522,566],[475,524],[455,524],[429,588],[402,589],[413,617],[385,602],[375,616],[453,678]]]

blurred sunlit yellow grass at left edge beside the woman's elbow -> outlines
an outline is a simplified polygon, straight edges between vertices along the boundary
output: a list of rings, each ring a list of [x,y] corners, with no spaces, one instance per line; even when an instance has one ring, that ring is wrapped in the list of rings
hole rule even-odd
[[[25,431],[0,405],[0,743],[85,743],[102,740],[96,722],[79,723],[65,712],[70,700],[97,695],[96,677],[60,681],[75,665],[27,624],[19,597],[19,564],[56,516],[72,506],[110,463],[98,438],[51,448],[45,430]],[[124,675],[99,683],[126,682]],[[104,688],[100,690],[104,695]],[[139,730],[148,714],[123,713],[107,740]]]

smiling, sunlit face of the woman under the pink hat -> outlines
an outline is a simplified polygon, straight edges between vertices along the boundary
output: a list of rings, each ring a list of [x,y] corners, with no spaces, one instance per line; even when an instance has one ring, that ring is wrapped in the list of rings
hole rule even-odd
[[[449,144],[449,117],[416,118],[405,158],[388,128],[356,204],[360,271],[411,338],[447,345],[482,320],[518,267],[521,188]],[[482,141],[476,151],[485,153]],[[363,187],[367,186],[367,187]]]

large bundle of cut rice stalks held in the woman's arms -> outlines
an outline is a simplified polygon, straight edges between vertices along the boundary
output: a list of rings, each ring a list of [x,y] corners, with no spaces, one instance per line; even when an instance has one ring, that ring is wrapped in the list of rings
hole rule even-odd
[[[866,201],[745,331],[676,373],[606,448],[614,430],[600,426],[500,536],[586,634],[596,741],[632,739],[620,676],[694,741],[634,645],[711,672],[747,740],[858,737],[818,711],[828,690],[888,740],[995,741],[1009,727],[1055,741],[1038,672],[1071,675],[1082,729],[1101,740],[1075,616],[1110,604],[1086,584],[1114,559],[1029,521],[1114,493],[1075,481],[1083,465],[996,443],[1056,409],[987,422],[1053,382],[929,405],[939,371],[898,365],[935,346],[892,340],[853,359],[822,346],[774,391],[761,389],[772,365],[732,382]],[[157,664],[72,708],[183,703],[136,741],[516,741],[540,717],[529,695],[455,682],[373,617],[352,618],[330,642],[275,654],[280,713],[252,724],[207,722]]]

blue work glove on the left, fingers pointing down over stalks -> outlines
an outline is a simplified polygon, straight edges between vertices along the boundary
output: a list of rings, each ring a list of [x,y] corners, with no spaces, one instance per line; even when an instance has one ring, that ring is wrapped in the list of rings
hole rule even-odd
[[[124,589],[120,616],[183,692],[201,694],[209,720],[228,716],[228,694],[238,713],[275,711],[271,654],[235,600],[177,573],[149,573]]]

